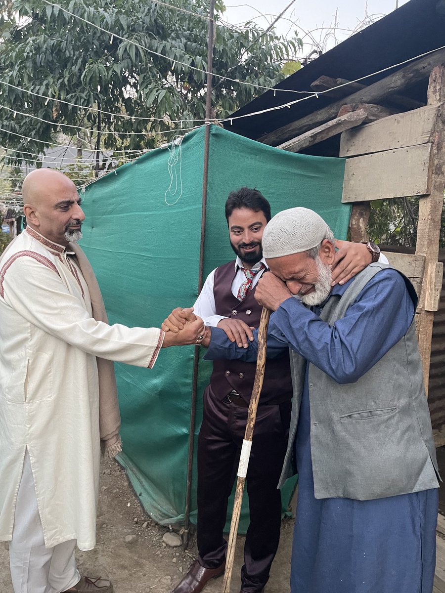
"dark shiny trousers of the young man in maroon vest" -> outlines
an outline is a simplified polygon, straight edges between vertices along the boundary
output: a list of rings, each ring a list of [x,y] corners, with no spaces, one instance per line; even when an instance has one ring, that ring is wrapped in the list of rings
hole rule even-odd
[[[276,489],[287,448],[291,401],[259,406],[247,470],[250,524],[241,569],[243,591],[265,586],[278,549],[281,493]],[[227,501],[236,479],[246,429],[247,407],[217,400],[208,385],[198,438],[198,552],[205,568],[224,562],[222,530]]]

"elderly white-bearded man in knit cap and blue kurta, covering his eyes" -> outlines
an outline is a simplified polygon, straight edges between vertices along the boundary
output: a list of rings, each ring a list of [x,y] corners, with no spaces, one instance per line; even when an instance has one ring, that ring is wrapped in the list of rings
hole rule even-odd
[[[294,458],[291,591],[431,593],[438,473],[414,288],[381,263],[332,288],[332,232],[305,208],[272,218],[263,253],[268,355],[290,348],[293,374],[279,483]],[[206,356],[252,361],[256,340],[239,347],[212,328]]]

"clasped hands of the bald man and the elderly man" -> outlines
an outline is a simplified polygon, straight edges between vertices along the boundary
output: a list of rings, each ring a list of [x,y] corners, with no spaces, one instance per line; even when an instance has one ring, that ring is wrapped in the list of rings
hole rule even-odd
[[[205,327],[201,317],[193,313],[193,307],[173,309],[161,329],[165,332],[163,348],[202,343],[208,346],[210,341],[210,330]]]

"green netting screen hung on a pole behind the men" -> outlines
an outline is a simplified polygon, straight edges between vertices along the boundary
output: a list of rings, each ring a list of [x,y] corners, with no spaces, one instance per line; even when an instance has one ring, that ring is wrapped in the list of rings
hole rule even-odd
[[[85,192],[81,245],[96,271],[111,323],[159,327],[174,307],[195,301],[204,135],[204,127],[187,135],[170,168],[169,151],[157,149]],[[182,185],[174,205],[164,199],[170,174],[177,178],[178,192],[167,201],[179,197]],[[204,275],[234,257],[224,203],[240,186],[257,187],[271,202],[272,215],[297,205],[314,209],[344,239],[350,209],[341,204],[343,174],[341,159],[284,152],[211,126]],[[142,505],[161,524],[180,521],[185,509],[193,351],[192,346],[162,350],[151,371],[116,364],[124,443],[119,460]],[[196,433],[210,372],[211,363],[201,360]],[[284,509],[293,485],[282,491]],[[196,467],[191,508],[196,519]],[[244,500],[241,533],[247,517]]]

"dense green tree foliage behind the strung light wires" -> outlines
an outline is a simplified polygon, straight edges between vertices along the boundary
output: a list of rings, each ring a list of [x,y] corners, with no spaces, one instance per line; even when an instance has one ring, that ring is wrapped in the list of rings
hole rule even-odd
[[[58,133],[77,136],[84,146],[120,154],[152,148],[159,135],[171,139],[172,130],[192,127],[194,120],[204,119],[208,19],[155,0],[61,2],[63,8],[109,34],[45,0],[0,2],[0,80],[56,99],[0,84],[0,104],[14,110],[0,109],[0,127],[7,130],[0,130],[0,144],[18,151],[8,158],[9,164],[34,158],[26,152],[40,154],[50,142],[57,142]],[[208,17],[208,0],[174,0],[174,4]],[[215,9],[213,71],[222,75],[230,71],[230,78],[266,87],[284,78],[282,66],[301,46],[300,40],[285,40],[274,30],[264,34],[253,23],[245,28],[224,25],[219,20],[224,5],[217,1]],[[212,86],[217,117],[227,116],[263,93],[238,82],[221,82],[216,76]],[[179,125],[174,120],[184,122]],[[69,125],[87,130],[80,132]]]

